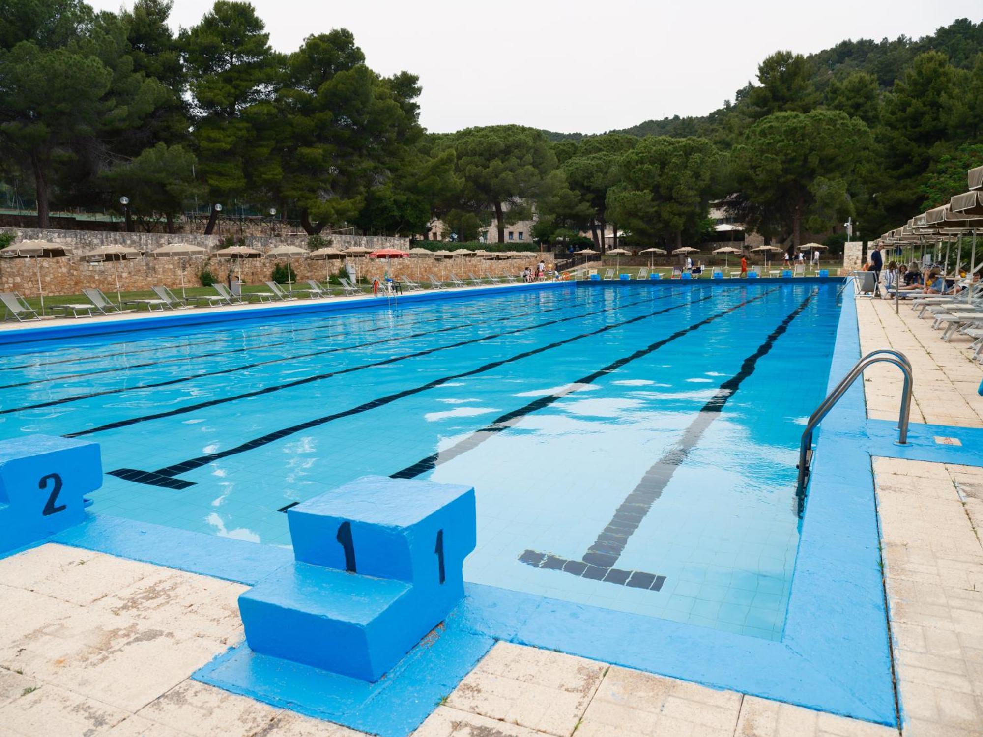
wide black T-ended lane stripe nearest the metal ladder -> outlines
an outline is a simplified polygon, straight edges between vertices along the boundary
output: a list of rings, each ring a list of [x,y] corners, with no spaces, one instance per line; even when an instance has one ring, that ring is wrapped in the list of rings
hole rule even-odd
[[[758,360],[772,350],[775,341],[781,337],[792,320],[805,310],[815,296],[816,292],[812,292],[798,307],[789,312],[781,320],[778,327],[765,338],[765,342],[758,346],[758,350],[744,359],[737,373],[721,384],[714,396],[700,409],[696,419],[686,428],[682,438],[665,451],[663,457],[645,472],[642,480],[624,498],[624,501],[615,510],[610,522],[607,523],[605,529],[594,541],[594,544],[587,549],[587,552],[581,556],[580,560],[571,560],[538,550],[524,551],[519,556],[519,560],[526,565],[533,566],[533,568],[562,571],[585,579],[638,589],[649,589],[654,592],[660,591],[665,584],[665,576],[641,571],[626,571],[615,568],[614,564],[624,552],[628,539],[638,530],[642,520],[652,510],[652,505],[662,496],[665,486],[672,479],[672,475],[689,457],[704,431],[714,420],[720,417],[721,411],[730,397],[737,392],[744,379],[754,373]]]

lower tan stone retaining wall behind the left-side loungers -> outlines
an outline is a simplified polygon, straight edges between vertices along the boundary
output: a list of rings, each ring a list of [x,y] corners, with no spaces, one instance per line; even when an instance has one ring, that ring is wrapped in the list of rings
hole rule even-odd
[[[469,273],[478,276],[491,273],[518,275],[523,267],[535,267],[539,255],[530,254],[527,258],[508,260],[486,260],[484,258],[394,258],[388,263],[376,258],[349,258],[356,273],[369,278],[379,278],[388,267],[395,276],[406,275],[414,281],[427,280],[433,274],[440,280],[447,280],[451,274],[468,278]],[[199,273],[208,268],[219,280],[224,281],[230,270],[234,275],[241,273],[247,284],[261,284],[270,278],[273,266],[287,263],[287,259],[247,258],[230,260],[214,256],[195,258],[135,258],[128,261],[106,261],[88,263],[75,256],[61,258],[0,258],[0,291],[20,292],[25,297],[38,294],[37,276],[40,271],[44,294],[81,294],[84,288],[97,287],[107,294],[116,291],[117,279],[123,291],[147,290],[151,286],[164,285],[171,289],[182,284],[197,287]],[[337,273],[346,260],[313,260],[295,258],[291,261],[296,280],[318,279],[324,281],[327,274]]]

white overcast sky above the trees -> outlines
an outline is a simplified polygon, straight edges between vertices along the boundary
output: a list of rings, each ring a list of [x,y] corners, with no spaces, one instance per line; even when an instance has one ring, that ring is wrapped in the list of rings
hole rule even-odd
[[[87,0],[118,10],[132,0]],[[920,37],[980,0],[254,0],[281,51],[348,28],[383,75],[423,85],[434,132],[519,123],[602,133],[652,118],[704,115],[753,80],[773,51],[810,53],[845,38]],[[211,7],[175,0],[174,28]]]

